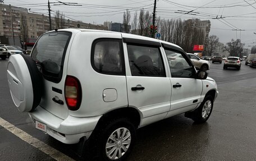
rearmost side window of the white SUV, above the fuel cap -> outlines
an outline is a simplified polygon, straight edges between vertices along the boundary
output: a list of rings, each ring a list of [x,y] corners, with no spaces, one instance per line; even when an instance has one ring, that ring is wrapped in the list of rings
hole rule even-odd
[[[93,42],[91,63],[95,71],[125,75],[121,40],[98,39]]]

